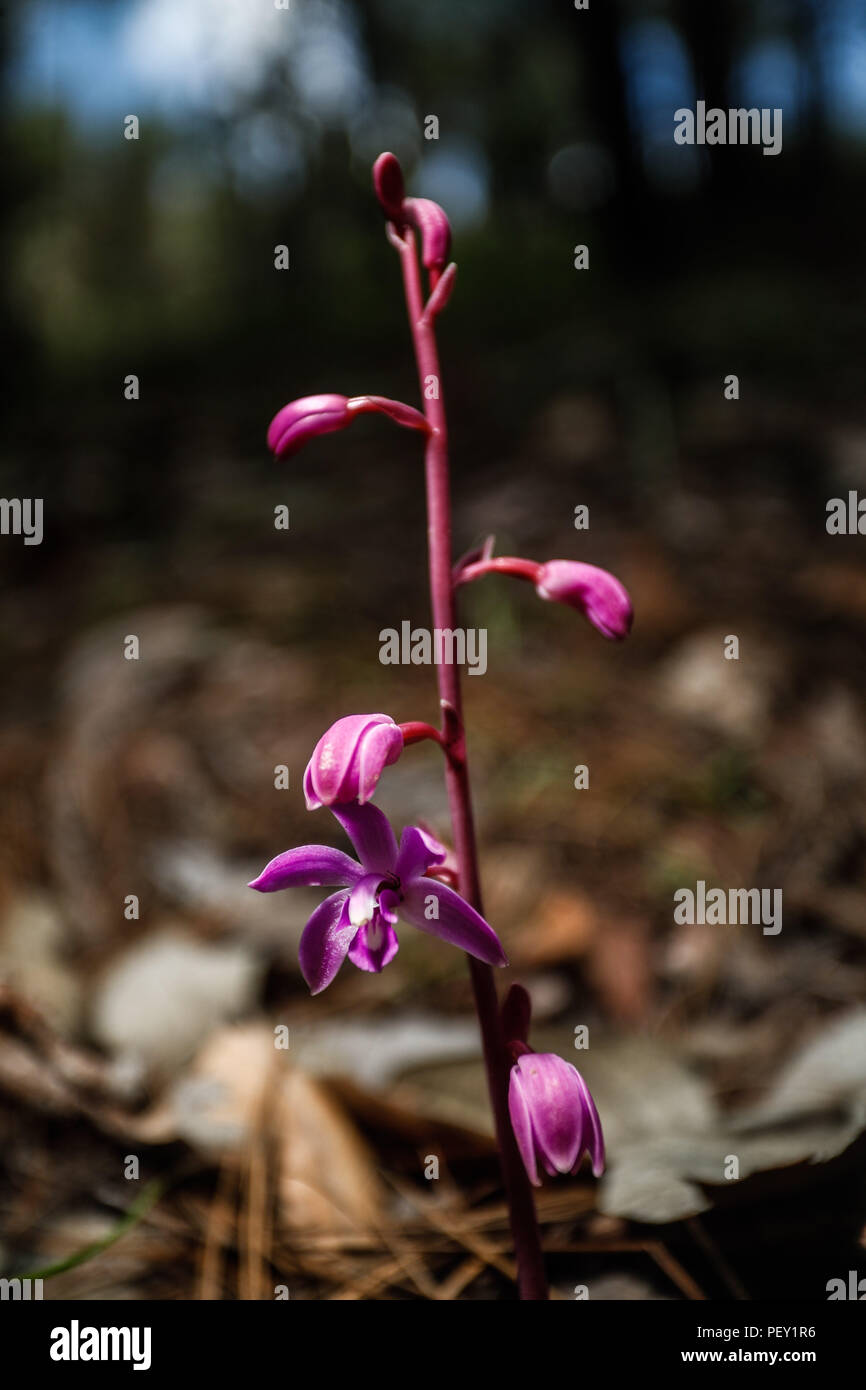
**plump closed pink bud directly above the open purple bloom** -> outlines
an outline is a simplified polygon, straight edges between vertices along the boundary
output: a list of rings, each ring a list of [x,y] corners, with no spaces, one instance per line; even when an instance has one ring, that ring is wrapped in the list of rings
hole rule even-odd
[[[385,767],[403,752],[389,714],[346,714],[318,739],[303,774],[307,810],[339,801],[370,801]]]

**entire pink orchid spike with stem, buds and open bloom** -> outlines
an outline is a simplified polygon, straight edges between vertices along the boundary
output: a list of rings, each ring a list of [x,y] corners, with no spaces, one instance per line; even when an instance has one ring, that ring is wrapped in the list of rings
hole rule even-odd
[[[450,227],[438,203],[407,197],[393,154],[374,164],[375,195],[386,220],[386,236],[399,254],[409,325],[424,398],[424,413],[385,396],[303,396],[271,421],[268,446],[286,459],[317,435],[345,430],[356,416],[385,414],[424,435],[428,506],[430,594],[434,627],[457,627],[456,592],[485,574],[510,574],[531,581],[541,598],[578,609],[607,638],[626,637],[631,600],[612,574],[578,560],[493,557],[492,542],[452,570],[448,421],[442,392],[436,318],[455,288],[449,264]],[[427,271],[427,296],[418,265]],[[425,384],[435,379],[438,389]],[[278,855],[250,887],[275,892],[295,884],[336,888],[316,909],[300,941],[300,965],[317,994],[336,976],[346,956],[361,970],[378,973],[398,951],[395,923],[409,922],[468,956],[475,1009],[484,1045],[488,1090],[496,1126],[502,1176],[509,1205],[517,1284],[521,1298],[546,1298],[548,1286],[535,1219],[532,1188],[538,1162],[549,1173],[570,1173],[584,1151],[596,1175],[603,1165],[602,1131],[595,1105],[580,1073],[550,1054],[527,1044],[528,995],[509,992],[502,1013],[491,966],[506,965],[493,929],[484,920],[475,830],[471,810],[460,671],[436,664],[441,727],[411,720],[396,724],[388,714],[348,714],[316,745],[304,773],[307,806],[329,806],[352,840],[357,859],[327,845],[303,845]],[[455,849],[449,852],[428,831],[409,826],[398,847],[386,817],[373,805],[384,770],[403,748],[431,739],[445,756]],[[456,892],[442,878],[456,881]]]

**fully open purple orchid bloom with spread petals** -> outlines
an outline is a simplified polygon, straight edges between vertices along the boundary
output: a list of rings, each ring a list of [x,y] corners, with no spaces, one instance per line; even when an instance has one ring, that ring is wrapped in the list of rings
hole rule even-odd
[[[271,859],[250,884],[257,892],[297,884],[339,890],[316,909],[300,938],[300,969],[313,994],[331,984],[346,956],[359,970],[374,972],[393,960],[398,919],[488,965],[507,965],[484,917],[453,888],[425,877],[445,859],[432,835],[407,826],[398,848],[391,823],[375,806],[348,802],[332,810],[357,859],[327,845],[302,845]]]

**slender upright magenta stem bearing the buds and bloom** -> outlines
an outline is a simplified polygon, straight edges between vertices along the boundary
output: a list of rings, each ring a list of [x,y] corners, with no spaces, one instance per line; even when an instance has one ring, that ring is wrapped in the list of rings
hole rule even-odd
[[[439,374],[439,353],[434,316],[424,316],[421,274],[416,256],[416,242],[411,231],[391,236],[400,254],[403,288],[409,310],[409,325],[414,346],[421,399],[431,431],[427,438],[427,541],[430,556],[430,596],[434,627],[455,628],[456,603],[452,582],[452,534],[450,534],[450,485],[448,468],[448,424]],[[460,670],[456,663],[438,664],[436,681],[439,699],[443,702],[448,731],[448,759],[445,778],[450,808],[455,849],[460,866],[460,891],[463,897],[484,913],[481,903],[481,881],[478,874],[478,851],[473,802],[466,758],[466,737],[463,730],[463,702],[460,694]],[[449,709],[450,706],[450,709]],[[448,726],[450,724],[450,730]],[[535,1216],[535,1202],[527,1170],[514,1140],[509,1118],[509,1074],[512,1059],[502,1037],[499,1001],[493,970],[482,960],[468,956],[468,967],[475,997],[475,1011],[481,1027],[487,1081],[496,1126],[496,1141],[502,1161],[502,1176],[514,1240],[517,1262],[517,1287],[521,1298],[545,1300],[548,1280],[544,1268],[541,1236]]]

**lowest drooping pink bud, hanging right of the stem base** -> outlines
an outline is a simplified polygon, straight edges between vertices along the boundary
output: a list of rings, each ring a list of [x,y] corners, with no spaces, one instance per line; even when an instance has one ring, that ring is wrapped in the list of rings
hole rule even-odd
[[[541,1187],[538,1161],[550,1176],[577,1172],[589,1154],[598,1177],[605,1140],[589,1087],[575,1066],[552,1052],[528,1052],[512,1068],[512,1129],[530,1182]]]

